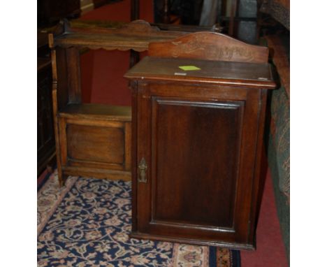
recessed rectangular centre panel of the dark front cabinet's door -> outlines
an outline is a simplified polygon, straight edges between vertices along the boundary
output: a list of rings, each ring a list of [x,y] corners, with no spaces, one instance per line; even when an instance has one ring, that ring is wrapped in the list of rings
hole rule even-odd
[[[152,220],[233,229],[243,102],[152,104]]]

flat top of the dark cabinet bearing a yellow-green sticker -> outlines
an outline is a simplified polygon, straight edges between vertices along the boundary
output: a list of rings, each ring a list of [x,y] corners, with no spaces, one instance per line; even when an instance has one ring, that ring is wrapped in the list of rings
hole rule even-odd
[[[183,70],[191,68],[191,70]],[[201,59],[145,57],[124,76],[136,80],[166,80],[275,88],[270,64]]]

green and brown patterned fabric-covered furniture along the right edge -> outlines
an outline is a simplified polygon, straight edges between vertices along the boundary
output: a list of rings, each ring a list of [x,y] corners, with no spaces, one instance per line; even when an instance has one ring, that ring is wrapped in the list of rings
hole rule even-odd
[[[290,251],[290,80],[289,39],[282,35],[266,36],[273,50],[273,64],[279,75],[279,89],[270,95],[269,124],[266,129],[268,164],[273,176],[279,224],[286,255]]]

